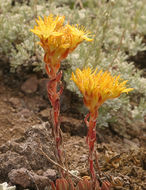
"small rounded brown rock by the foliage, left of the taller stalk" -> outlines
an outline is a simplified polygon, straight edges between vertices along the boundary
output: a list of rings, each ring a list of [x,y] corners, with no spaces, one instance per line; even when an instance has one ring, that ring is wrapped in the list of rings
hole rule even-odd
[[[36,76],[28,78],[21,86],[21,90],[26,94],[31,94],[37,91],[38,80]]]

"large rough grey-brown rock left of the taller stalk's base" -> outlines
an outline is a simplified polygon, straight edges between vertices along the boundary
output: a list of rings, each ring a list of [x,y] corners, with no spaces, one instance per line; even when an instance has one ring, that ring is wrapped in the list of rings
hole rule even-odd
[[[52,132],[49,123],[30,127],[23,137],[0,146],[0,182],[8,179],[12,169],[43,170],[53,165],[39,151],[39,146],[54,159]]]

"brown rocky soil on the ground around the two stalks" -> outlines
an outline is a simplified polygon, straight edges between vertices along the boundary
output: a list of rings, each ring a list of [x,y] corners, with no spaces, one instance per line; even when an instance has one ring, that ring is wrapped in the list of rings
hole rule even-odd
[[[35,78],[33,88],[32,77]],[[7,181],[17,185],[17,189],[43,189],[47,177],[53,180],[58,177],[56,166],[39,151],[42,147],[54,159],[51,107],[44,91],[47,79],[38,79],[36,75],[22,78],[6,74],[3,68],[0,70],[0,183]],[[61,102],[61,129],[68,169],[79,177],[88,176],[87,128],[84,116],[75,109],[81,102],[66,90]],[[119,125],[97,129],[100,170],[114,190],[144,190],[146,128],[143,123],[129,126],[123,118]],[[121,131],[116,130],[118,127],[122,127],[125,134],[121,135]],[[18,173],[23,176],[21,180]],[[24,173],[29,174],[29,178]]]

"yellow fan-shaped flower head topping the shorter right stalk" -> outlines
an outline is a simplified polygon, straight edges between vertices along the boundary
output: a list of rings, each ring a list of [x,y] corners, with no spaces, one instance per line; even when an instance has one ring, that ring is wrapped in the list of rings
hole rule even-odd
[[[126,88],[126,81],[122,81],[120,76],[111,76],[106,71],[91,68],[76,69],[76,75],[72,73],[71,79],[76,83],[80,92],[83,94],[84,103],[90,112],[98,109],[106,100],[117,98],[121,93],[130,92],[133,88]]]

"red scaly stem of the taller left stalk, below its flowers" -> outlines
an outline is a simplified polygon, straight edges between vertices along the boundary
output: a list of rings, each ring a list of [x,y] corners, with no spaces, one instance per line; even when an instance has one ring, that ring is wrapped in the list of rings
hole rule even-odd
[[[61,129],[60,129],[60,95],[63,92],[63,85],[61,82],[62,72],[55,73],[53,72],[52,75],[50,73],[50,68],[46,64],[46,72],[50,78],[50,81],[47,84],[47,92],[48,92],[48,98],[52,105],[52,120],[53,120],[53,136],[56,144],[56,158],[58,163],[63,166],[63,160],[62,160],[62,151],[61,151],[61,144],[62,144],[62,135],[61,135]],[[58,90],[59,88],[59,90]],[[60,171],[60,168],[59,168]],[[60,171],[61,176],[64,177],[64,171]]]

